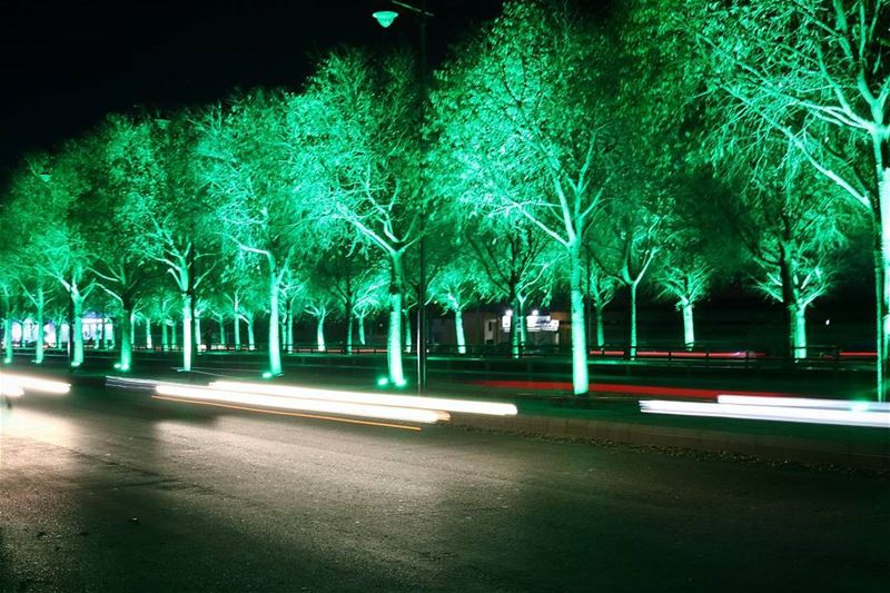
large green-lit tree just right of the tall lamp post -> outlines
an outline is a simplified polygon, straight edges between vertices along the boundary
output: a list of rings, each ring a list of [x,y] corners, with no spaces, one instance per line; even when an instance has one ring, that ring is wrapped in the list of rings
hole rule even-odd
[[[565,4],[510,2],[445,67],[434,95],[444,141],[477,180],[476,208],[525,217],[568,261],[578,395],[590,387],[582,245],[615,144],[609,46]]]

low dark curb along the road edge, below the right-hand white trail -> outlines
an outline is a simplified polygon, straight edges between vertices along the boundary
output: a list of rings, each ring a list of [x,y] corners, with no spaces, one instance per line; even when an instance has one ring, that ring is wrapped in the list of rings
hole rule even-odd
[[[882,444],[676,428],[552,416],[452,414],[452,425],[520,435],[729,453],[805,465],[890,472],[890,438]]]

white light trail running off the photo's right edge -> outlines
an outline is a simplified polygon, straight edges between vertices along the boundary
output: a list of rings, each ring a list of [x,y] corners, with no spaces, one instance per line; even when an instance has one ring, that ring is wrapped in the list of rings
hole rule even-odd
[[[680,416],[706,416],[890,428],[890,414],[884,412],[705,404],[699,402],[669,402],[664,399],[642,401],[640,402],[640,411],[645,414],[673,414]]]

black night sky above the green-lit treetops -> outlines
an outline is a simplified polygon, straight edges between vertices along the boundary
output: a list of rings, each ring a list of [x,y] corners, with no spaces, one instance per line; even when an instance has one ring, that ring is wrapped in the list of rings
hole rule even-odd
[[[428,0],[435,60],[502,0]],[[299,87],[312,57],[338,43],[416,43],[388,0],[3,0],[0,2],[0,178],[18,155],[49,148],[108,111],[174,108],[237,87]]]

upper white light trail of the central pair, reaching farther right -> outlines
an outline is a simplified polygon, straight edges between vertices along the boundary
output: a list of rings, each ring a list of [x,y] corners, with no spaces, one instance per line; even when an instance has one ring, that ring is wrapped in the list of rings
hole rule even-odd
[[[387,395],[365,392],[320,389],[315,387],[298,387],[295,385],[270,385],[263,383],[238,383],[231,380],[217,380],[210,383],[212,388],[239,393],[260,393],[281,397],[300,397],[325,402],[349,402],[353,404],[368,404],[375,406],[396,406],[415,409],[429,409],[442,412],[457,412],[464,414],[483,414],[490,416],[515,416],[517,411],[513,404],[492,402],[474,402],[467,399],[451,399],[442,397],[417,397],[411,395]]]

